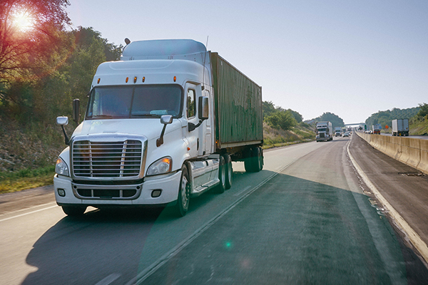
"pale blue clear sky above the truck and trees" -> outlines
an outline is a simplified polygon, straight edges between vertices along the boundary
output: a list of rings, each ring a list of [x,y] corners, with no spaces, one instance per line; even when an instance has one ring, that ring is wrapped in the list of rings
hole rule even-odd
[[[428,103],[427,0],[70,0],[73,28],[109,43],[200,41],[304,120],[362,123]]]

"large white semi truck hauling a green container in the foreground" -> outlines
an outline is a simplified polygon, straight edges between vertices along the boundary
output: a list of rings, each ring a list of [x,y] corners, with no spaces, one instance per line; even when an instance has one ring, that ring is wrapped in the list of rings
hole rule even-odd
[[[262,88],[193,40],[133,41],[121,61],[101,63],[83,122],[58,156],[56,203],[68,215],[88,206],[175,207],[229,189],[233,161],[263,169]]]

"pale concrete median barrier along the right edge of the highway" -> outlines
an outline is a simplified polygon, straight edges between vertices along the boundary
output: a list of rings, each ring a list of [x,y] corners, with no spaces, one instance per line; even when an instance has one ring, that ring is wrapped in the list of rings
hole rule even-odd
[[[428,174],[428,140],[355,133],[384,154]]]

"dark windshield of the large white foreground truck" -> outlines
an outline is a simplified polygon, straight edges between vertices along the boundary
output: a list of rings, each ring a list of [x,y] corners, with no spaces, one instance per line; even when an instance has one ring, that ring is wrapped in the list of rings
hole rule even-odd
[[[181,117],[183,90],[170,86],[107,86],[93,88],[86,119]]]

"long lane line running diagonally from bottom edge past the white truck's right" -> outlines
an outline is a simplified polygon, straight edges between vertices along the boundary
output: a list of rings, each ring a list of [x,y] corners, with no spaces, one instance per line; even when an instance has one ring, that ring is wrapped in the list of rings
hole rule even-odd
[[[285,170],[285,168],[289,167],[290,165],[292,165],[297,160],[299,160],[299,158],[296,158],[295,160],[293,160],[289,164],[287,164],[284,167],[282,167],[282,170],[280,172],[282,172],[283,170]],[[263,185],[265,185],[266,182],[268,182],[269,180],[271,180],[276,175],[280,174],[280,172],[274,172],[272,175],[270,175],[265,180],[263,180],[262,182],[260,182],[257,186],[255,186],[252,190],[250,190],[249,192],[245,193],[245,195],[243,195],[242,197],[239,197],[235,202],[233,202],[233,204],[230,204],[229,207],[225,208],[217,216],[213,217],[213,219],[210,219],[208,222],[206,222],[205,224],[203,224],[201,227],[199,227],[199,229],[196,229],[195,232],[193,232],[193,234],[190,234],[189,237],[187,237],[186,239],[183,239],[182,242],[180,242],[175,247],[173,247],[172,249],[170,249],[169,252],[163,254],[163,256],[161,258],[159,258],[158,260],[156,260],[155,262],[153,262],[153,264],[151,264],[148,267],[146,267],[146,269],[144,269],[143,271],[141,271],[136,277],[134,277],[133,279],[131,279],[130,281],[128,281],[128,283],[126,283],[126,285],[142,284],[143,281],[148,278],[148,276],[151,276],[151,274],[153,274],[156,270],[160,269],[163,266],[163,264],[165,264],[170,259],[172,259],[173,257],[175,257],[175,255],[177,255],[185,247],[187,247],[188,244],[190,244],[191,242],[193,242],[193,240],[195,240],[197,237],[199,237],[201,234],[203,234],[203,232],[205,232],[207,229],[209,229],[221,217],[223,217],[225,214],[227,214],[228,212],[230,212],[240,202],[242,202],[246,197],[250,196],[253,192],[255,192],[255,190],[258,190],[260,187],[262,187]]]

